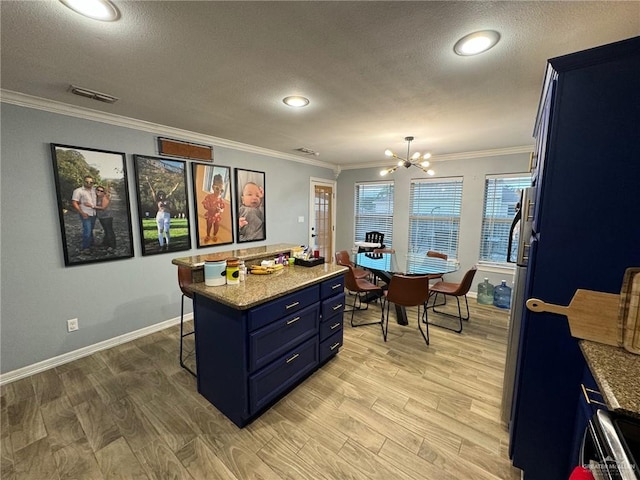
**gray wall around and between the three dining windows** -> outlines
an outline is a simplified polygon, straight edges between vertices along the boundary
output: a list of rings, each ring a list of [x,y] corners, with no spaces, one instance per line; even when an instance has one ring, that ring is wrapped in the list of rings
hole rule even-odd
[[[529,168],[529,154],[510,154],[493,157],[447,160],[433,162],[438,177],[463,177],[462,214],[460,220],[459,256],[460,270],[447,275],[449,281],[459,281],[464,272],[478,263],[480,253],[480,232],[482,228],[482,208],[484,204],[485,176],[489,174],[523,173]],[[417,168],[400,168],[388,177],[380,176],[381,167],[343,170],[338,177],[338,218],[336,224],[336,249],[349,250],[354,242],[354,201],[356,182],[380,180],[394,181],[393,248],[404,265],[409,245],[409,192],[411,180],[428,178]],[[505,279],[513,280],[511,269],[478,266],[472,290],[482,277],[489,277],[491,283],[499,284]]]

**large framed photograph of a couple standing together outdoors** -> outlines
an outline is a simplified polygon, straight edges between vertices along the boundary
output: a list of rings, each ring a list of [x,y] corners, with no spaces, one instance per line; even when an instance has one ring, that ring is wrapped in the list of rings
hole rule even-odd
[[[65,266],[133,257],[126,156],[51,144]]]

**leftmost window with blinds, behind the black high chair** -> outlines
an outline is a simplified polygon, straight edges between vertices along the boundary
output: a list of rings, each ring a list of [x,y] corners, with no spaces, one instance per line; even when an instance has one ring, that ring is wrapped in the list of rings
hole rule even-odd
[[[356,183],[355,241],[367,232],[384,233],[384,244],[393,244],[393,182]]]

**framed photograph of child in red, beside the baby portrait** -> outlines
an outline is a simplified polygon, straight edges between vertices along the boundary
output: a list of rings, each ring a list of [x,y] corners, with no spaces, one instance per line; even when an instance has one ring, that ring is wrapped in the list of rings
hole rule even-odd
[[[231,169],[191,164],[198,247],[233,243]]]

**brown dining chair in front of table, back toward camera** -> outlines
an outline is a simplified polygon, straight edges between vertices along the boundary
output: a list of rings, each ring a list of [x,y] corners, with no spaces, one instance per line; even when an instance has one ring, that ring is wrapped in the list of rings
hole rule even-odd
[[[394,303],[402,307],[418,307],[418,330],[422,338],[429,345],[429,322],[427,321],[427,301],[429,300],[429,276],[428,275],[400,275],[391,277],[389,288],[384,291],[382,297],[382,336],[387,341],[389,332],[389,305]],[[420,307],[423,307],[422,315]],[[422,330],[422,324],[425,330]]]

